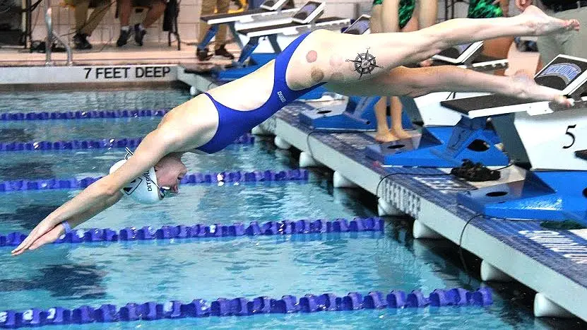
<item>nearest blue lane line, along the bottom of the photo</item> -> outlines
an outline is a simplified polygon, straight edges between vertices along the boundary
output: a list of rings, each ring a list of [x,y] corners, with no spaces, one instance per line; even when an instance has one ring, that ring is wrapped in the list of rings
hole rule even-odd
[[[438,297],[442,300],[437,300]],[[398,297],[401,297],[398,300]],[[414,301],[417,303],[410,303]],[[432,302],[442,302],[434,305]],[[399,303],[398,303],[399,302]],[[293,295],[284,295],[280,299],[270,297],[256,297],[247,300],[244,297],[234,299],[218,298],[213,302],[195,299],[184,303],[179,300],[169,302],[144,302],[142,304],[129,302],[117,309],[114,305],[102,305],[93,308],[87,305],[68,310],[63,307],[53,307],[48,310],[31,308],[24,312],[6,310],[0,312],[0,327],[16,329],[25,326],[45,326],[63,324],[90,324],[107,322],[153,321],[158,319],[182,319],[186,317],[244,317],[256,314],[290,314],[314,313],[327,311],[347,310],[383,310],[398,308],[422,308],[444,306],[479,306],[492,305],[492,291],[490,288],[480,288],[470,292],[463,288],[437,289],[428,297],[420,290],[406,294],[401,290],[393,290],[385,294],[372,291],[367,295],[348,293],[344,297],[336,297],[332,293],[322,295],[305,295],[300,300]]]

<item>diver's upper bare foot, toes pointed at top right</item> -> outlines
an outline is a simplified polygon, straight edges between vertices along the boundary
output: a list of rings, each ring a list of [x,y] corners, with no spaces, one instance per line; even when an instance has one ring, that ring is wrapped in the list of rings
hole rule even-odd
[[[528,27],[533,30],[533,35],[550,35],[564,31],[579,31],[581,24],[579,20],[561,20],[548,16],[536,6],[528,6],[521,15]]]

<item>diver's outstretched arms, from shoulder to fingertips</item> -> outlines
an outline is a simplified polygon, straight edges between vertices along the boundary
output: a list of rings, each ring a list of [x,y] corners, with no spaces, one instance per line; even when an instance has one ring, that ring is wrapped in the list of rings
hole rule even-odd
[[[177,136],[177,131],[170,131],[164,126],[152,131],[124,165],[111,175],[90,184],[73,199],[59,206],[43,219],[11,253],[22,254],[28,249],[36,249],[43,244],[53,242],[64,230],[61,225],[63,221],[67,221],[71,227],[74,227],[116,204],[121,197],[120,189],[147,172],[165,155],[177,150],[179,141],[181,140]]]

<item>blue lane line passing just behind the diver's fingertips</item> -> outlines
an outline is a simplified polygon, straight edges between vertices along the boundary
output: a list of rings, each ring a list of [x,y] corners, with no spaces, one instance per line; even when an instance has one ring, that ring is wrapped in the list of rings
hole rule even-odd
[[[110,228],[90,230],[72,230],[61,236],[54,244],[61,243],[92,243],[92,242],[123,242],[145,240],[172,240],[203,237],[239,237],[256,235],[294,235],[319,234],[330,232],[382,232],[384,220],[381,218],[354,218],[352,220],[283,220],[268,221],[259,224],[256,221],[248,226],[243,223],[232,225],[164,225],[161,228],[146,226],[143,228]],[[11,232],[0,235],[0,247],[16,247],[27,237],[23,232]]]

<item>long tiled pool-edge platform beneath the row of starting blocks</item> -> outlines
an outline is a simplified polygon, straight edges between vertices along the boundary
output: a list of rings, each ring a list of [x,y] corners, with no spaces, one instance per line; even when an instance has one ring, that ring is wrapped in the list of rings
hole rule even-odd
[[[379,206],[384,206],[387,214],[415,218],[415,236],[461,242],[463,249],[482,259],[484,281],[494,278],[487,271],[484,275],[483,269],[497,269],[506,278],[535,290],[535,305],[547,297],[587,321],[587,229],[552,230],[542,227],[540,220],[480,216],[459,206],[457,196],[482,186],[435,168],[382,167],[364,155],[364,149],[374,143],[372,136],[312,131],[299,118],[300,112],[309,108],[302,102],[289,105],[258,128],[310,153],[316,163],[379,196]],[[515,166],[508,170],[512,169],[518,170]],[[428,234],[422,235],[422,228]],[[537,316],[544,316],[537,310]]]

